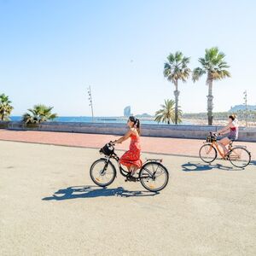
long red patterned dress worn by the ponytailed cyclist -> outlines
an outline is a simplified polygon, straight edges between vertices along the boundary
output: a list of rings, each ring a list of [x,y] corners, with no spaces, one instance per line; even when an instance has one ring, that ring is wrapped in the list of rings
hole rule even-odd
[[[131,134],[131,143],[130,149],[125,152],[120,158],[120,163],[123,166],[131,167],[137,166],[140,168],[143,165],[142,160],[140,159],[141,156],[141,145],[140,145],[140,137]]]

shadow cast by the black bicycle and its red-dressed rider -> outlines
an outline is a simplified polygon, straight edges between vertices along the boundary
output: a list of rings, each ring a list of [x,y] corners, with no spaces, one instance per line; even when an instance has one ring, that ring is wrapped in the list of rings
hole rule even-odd
[[[99,188],[96,186],[74,186],[68,187],[67,189],[59,189],[55,192],[54,195],[49,197],[44,197],[44,201],[61,201],[67,199],[76,199],[76,198],[93,198],[101,196],[121,196],[121,197],[130,197],[130,196],[153,196],[158,195],[159,193],[149,192],[149,191],[129,191],[122,187],[116,189],[108,188]]]

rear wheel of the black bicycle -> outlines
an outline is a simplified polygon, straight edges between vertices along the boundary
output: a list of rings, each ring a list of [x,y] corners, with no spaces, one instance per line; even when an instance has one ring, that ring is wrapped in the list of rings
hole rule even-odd
[[[169,172],[159,162],[148,162],[139,172],[139,178],[145,189],[157,192],[166,188]]]

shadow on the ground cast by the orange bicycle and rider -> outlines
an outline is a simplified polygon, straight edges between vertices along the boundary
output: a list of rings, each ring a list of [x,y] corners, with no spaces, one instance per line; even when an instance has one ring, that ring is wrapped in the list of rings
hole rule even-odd
[[[223,166],[220,164],[206,164],[201,162],[191,162],[182,165],[183,172],[203,172],[211,171],[212,169],[224,170],[224,171],[242,171],[242,168],[236,168],[234,166]]]

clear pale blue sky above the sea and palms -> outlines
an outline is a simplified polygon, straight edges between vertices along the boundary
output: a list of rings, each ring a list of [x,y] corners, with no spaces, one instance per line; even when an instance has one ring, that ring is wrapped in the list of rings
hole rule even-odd
[[[166,55],[181,50],[190,68],[212,46],[226,54],[231,79],[213,84],[214,111],[256,104],[256,2],[0,0],[0,92],[14,114],[36,103],[59,115],[154,113],[173,99]],[[205,112],[206,78],[179,84],[183,112]]]

